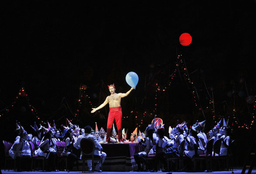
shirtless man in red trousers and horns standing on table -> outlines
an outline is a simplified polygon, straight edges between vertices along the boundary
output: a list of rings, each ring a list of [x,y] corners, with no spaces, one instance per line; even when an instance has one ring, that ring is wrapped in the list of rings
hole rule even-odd
[[[119,142],[122,141],[122,108],[121,108],[121,98],[126,97],[130,94],[130,92],[135,87],[132,87],[129,91],[126,93],[116,93],[116,88],[114,84],[111,84],[108,86],[110,95],[106,98],[106,100],[98,107],[98,108],[92,108],[91,113],[105,107],[107,104],[109,104],[109,114],[108,114],[108,123],[107,123],[107,139],[106,142],[110,142],[110,134],[111,134],[111,128],[114,123],[114,120],[116,120],[116,126],[117,126],[117,133],[118,133],[118,140]]]

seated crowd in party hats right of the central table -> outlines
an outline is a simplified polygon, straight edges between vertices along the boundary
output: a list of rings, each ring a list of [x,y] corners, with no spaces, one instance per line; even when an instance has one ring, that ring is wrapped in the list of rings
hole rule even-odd
[[[153,121],[154,123],[154,121]],[[208,133],[205,134],[204,127],[206,121],[197,121],[194,125],[189,126],[184,121],[176,127],[169,126],[169,137],[165,136],[165,129],[163,125],[153,126],[149,125],[146,129],[146,138],[140,140],[140,144],[145,146],[145,151],[134,155],[134,159],[138,165],[138,171],[145,171],[142,168],[142,163],[146,164],[146,170],[157,171],[159,161],[163,164],[163,170],[167,171],[168,158],[177,158],[182,155],[185,157],[182,168],[177,168],[177,161],[170,161],[174,163],[174,168],[169,171],[204,171],[206,168],[194,166],[194,157],[203,154],[213,155],[214,151],[206,152],[207,143],[212,140],[212,145],[221,140],[220,153],[218,155],[225,156],[228,154],[228,147],[231,142],[231,129],[222,118],[219,123],[214,126]],[[181,147],[182,146],[182,147]],[[181,152],[182,151],[182,152]],[[146,157],[154,154],[153,163],[146,160]],[[215,155],[215,154],[214,154]],[[217,155],[217,154],[216,154]],[[175,167],[176,165],[176,167]]]

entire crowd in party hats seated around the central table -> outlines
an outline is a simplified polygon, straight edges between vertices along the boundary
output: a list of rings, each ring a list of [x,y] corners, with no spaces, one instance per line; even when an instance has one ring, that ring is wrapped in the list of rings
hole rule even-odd
[[[94,154],[101,155],[101,162],[106,159],[107,154],[102,149],[102,143],[106,142],[106,132],[101,127],[98,129],[97,123],[95,124],[95,130],[91,126],[87,125],[80,128],[78,125],[73,125],[67,119],[68,125],[61,125],[59,128],[52,126],[48,123],[47,127],[36,123],[31,126],[28,133],[23,126],[17,122],[18,136],[15,138],[14,143],[9,150],[9,155],[15,160],[15,168],[17,171],[30,170],[31,169],[31,156],[44,156],[46,161],[46,171],[56,171],[58,155],[67,156],[68,159],[68,171],[72,171],[77,159],[82,159],[82,152],[80,142],[82,138],[90,138],[93,140],[95,147]],[[120,141],[115,131],[113,124],[110,143],[139,143],[143,146],[143,151],[134,154],[134,160],[137,164],[137,171],[157,171],[159,170],[159,161],[162,163],[162,171],[167,170],[166,159],[177,157],[180,154],[180,146],[184,144],[185,156],[187,161],[183,167],[183,171],[195,171],[192,165],[192,159],[200,154],[206,154],[207,142],[218,139],[222,139],[220,155],[227,155],[228,146],[230,144],[230,128],[225,119],[221,119],[219,123],[214,126],[208,133],[204,132],[206,121],[197,121],[194,125],[187,125],[184,121],[181,124],[171,128],[169,126],[168,131],[165,131],[164,125],[159,124],[159,120],[155,119],[148,125],[145,131],[142,133],[135,128],[133,133],[127,135],[125,129],[122,131],[123,139]],[[31,154],[31,145],[33,142],[35,151]],[[57,142],[62,142],[65,146],[63,152],[58,154]],[[101,151],[101,153],[100,153]],[[209,152],[208,152],[209,153]],[[212,153],[212,152],[211,152]],[[154,154],[153,163],[149,163],[146,159],[148,155]],[[95,171],[101,172],[101,162],[95,167]],[[29,164],[29,165],[28,165]],[[146,164],[146,168],[142,164]],[[87,161],[88,170],[92,170],[92,162]],[[175,166],[175,162],[174,165]],[[175,170],[175,169],[171,169]],[[181,169],[179,169],[181,170]]]

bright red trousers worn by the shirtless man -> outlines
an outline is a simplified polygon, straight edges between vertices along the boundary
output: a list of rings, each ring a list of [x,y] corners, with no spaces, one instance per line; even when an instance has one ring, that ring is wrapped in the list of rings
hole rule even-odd
[[[114,120],[116,120],[118,140],[122,140],[122,115],[123,114],[121,106],[109,108],[106,142],[110,142],[111,128],[114,123]]]

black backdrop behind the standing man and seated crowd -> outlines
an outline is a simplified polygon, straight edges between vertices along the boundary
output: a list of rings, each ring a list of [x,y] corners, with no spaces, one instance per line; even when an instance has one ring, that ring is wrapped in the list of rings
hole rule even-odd
[[[128,91],[125,76],[133,71],[139,83],[122,99],[122,126],[129,134],[137,126],[143,132],[155,115],[166,130],[206,120],[205,132],[224,117],[239,148],[248,149],[255,132],[255,102],[246,100],[254,97],[256,85],[255,6],[255,1],[2,2],[1,138],[14,141],[16,120],[28,132],[34,121],[47,127],[47,120],[55,120],[58,128],[66,118],[80,127],[95,128],[97,121],[106,129],[108,106],[97,114],[90,114],[91,108],[109,95],[109,84],[115,83],[116,92]],[[184,32],[193,38],[187,47],[179,43]],[[177,68],[178,55],[183,63]],[[185,65],[193,85],[184,78]],[[26,93],[19,95],[21,88]],[[239,152],[240,159],[246,153]]]

